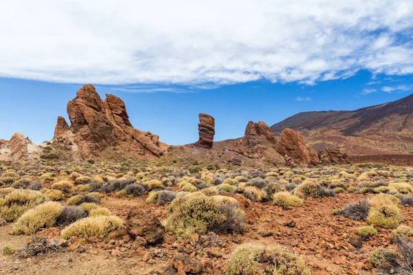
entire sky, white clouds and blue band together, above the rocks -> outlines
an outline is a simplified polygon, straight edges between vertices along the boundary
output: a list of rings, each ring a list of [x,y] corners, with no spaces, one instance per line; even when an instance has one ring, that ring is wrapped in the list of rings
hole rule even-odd
[[[91,12],[93,11],[93,12]],[[52,138],[78,88],[168,144],[248,120],[357,109],[413,89],[413,1],[0,1],[0,138]]]

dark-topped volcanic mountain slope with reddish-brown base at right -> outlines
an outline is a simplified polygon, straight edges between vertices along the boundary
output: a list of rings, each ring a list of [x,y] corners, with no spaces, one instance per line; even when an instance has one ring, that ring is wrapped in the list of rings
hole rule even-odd
[[[413,154],[413,94],[355,111],[310,111],[271,126],[299,131],[317,151],[339,148],[348,155]]]

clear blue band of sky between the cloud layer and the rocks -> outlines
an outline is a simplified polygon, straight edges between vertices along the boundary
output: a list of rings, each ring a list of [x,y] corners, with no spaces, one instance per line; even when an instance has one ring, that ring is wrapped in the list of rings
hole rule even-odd
[[[0,78],[0,138],[9,139],[20,131],[37,143],[51,140],[57,117],[62,115],[69,122],[67,101],[82,85]],[[225,140],[244,135],[249,120],[263,120],[271,126],[300,111],[352,110],[403,98],[412,93],[413,76],[379,75],[373,79],[370,72],[361,71],[317,85],[258,80],[215,89],[95,86],[102,98],[114,94],[125,101],[136,128],[160,135],[167,144],[187,144],[198,140],[200,112],[215,117],[215,140]]]

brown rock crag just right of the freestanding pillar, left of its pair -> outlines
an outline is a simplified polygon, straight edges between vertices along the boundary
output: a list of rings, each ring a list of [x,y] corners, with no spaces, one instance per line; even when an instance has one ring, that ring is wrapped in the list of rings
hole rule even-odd
[[[253,148],[262,144],[262,142],[260,142],[261,136],[269,142],[276,142],[273,132],[271,132],[270,127],[265,122],[259,121],[254,123],[250,121],[246,124],[245,135],[242,142],[244,145],[248,146],[248,148]]]

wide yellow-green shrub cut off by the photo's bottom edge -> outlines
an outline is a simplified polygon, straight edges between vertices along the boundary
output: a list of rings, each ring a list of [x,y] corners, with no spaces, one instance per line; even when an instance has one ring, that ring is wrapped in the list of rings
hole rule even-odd
[[[306,263],[286,248],[243,245],[226,265],[226,275],[310,275]]]

